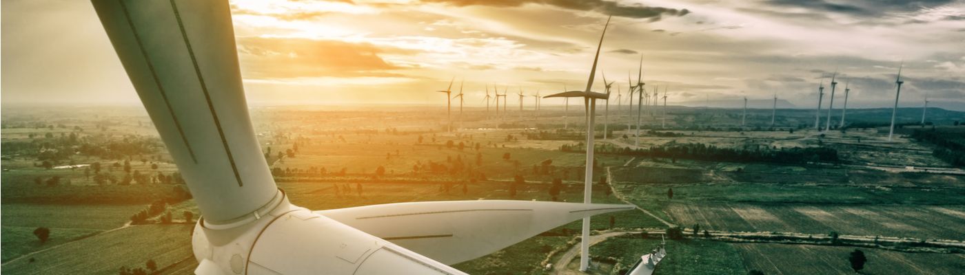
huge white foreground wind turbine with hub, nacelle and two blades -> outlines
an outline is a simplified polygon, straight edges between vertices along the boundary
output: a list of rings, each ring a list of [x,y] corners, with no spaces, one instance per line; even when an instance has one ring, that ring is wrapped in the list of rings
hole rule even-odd
[[[248,114],[228,1],[92,2],[202,214],[190,236],[195,274],[465,274],[447,264],[633,209],[505,200],[319,212],[292,205]],[[426,238],[433,234],[445,238]]]

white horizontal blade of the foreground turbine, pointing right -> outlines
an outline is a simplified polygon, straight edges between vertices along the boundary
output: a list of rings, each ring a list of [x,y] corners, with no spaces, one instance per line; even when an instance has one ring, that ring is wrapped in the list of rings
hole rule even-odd
[[[480,200],[397,203],[316,213],[453,264],[583,217],[632,209],[629,205]]]

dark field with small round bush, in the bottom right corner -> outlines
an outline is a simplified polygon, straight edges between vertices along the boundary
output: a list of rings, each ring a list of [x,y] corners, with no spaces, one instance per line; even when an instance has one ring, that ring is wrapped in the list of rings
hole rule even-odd
[[[847,261],[852,247],[734,243],[747,269],[764,274],[855,274]],[[862,248],[868,263],[862,274],[961,274],[965,255],[901,253]]]

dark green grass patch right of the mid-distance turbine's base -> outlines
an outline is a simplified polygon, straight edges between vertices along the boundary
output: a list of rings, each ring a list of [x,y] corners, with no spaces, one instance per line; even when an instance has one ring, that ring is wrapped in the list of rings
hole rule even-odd
[[[658,238],[611,238],[590,247],[590,255],[596,261],[609,258],[617,261],[617,268],[629,268],[659,244]],[[730,243],[703,239],[667,240],[666,250],[667,257],[657,264],[654,273],[747,274],[740,255]]]

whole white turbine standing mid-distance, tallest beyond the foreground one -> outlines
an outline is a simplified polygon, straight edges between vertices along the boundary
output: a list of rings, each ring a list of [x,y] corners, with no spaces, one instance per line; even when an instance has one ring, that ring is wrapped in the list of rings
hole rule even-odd
[[[590,80],[587,81],[586,90],[569,90],[557,94],[547,95],[546,97],[583,97],[584,108],[587,113],[587,171],[586,179],[583,187],[583,203],[590,204],[591,189],[593,187],[593,122],[596,112],[596,99],[607,100],[610,97],[608,93],[594,92],[590,89],[593,87],[593,76],[596,74],[596,62],[599,60],[600,47],[603,45],[603,37],[606,36],[606,28],[610,26],[610,18],[606,20],[606,25],[603,26],[603,34],[600,35],[600,41],[596,45],[596,55],[593,57],[593,67],[590,69]],[[587,267],[590,264],[590,218],[583,219],[583,238],[580,240],[580,271],[587,271]]]

